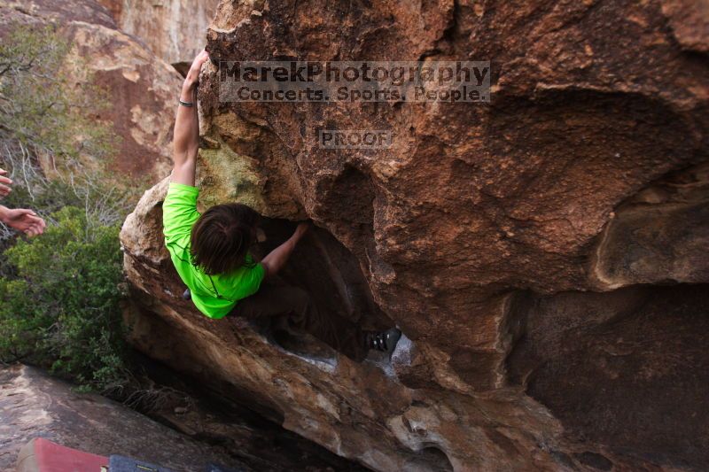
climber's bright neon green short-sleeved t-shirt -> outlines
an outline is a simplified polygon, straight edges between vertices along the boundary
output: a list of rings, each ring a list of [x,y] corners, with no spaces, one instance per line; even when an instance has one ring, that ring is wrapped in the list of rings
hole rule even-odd
[[[168,196],[162,205],[165,245],[177,274],[191,291],[194,305],[209,318],[223,318],[238,300],[259,290],[265,271],[261,264],[253,265],[251,254],[246,256],[246,262],[253,267],[238,267],[230,274],[210,277],[192,265],[190,236],[192,226],[200,216],[198,195],[197,187],[170,182]]]

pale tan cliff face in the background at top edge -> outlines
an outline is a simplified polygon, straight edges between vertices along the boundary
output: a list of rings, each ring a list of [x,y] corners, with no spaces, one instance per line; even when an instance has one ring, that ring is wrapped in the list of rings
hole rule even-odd
[[[189,63],[205,46],[219,0],[98,0],[122,31],[141,38],[162,60]]]

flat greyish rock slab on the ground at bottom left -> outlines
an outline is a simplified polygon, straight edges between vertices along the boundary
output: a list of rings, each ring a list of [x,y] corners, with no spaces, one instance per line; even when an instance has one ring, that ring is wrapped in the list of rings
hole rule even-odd
[[[168,373],[162,370],[161,374]],[[168,381],[184,391],[180,380]],[[19,449],[33,437],[91,453],[129,455],[176,472],[202,472],[210,460],[244,472],[365,470],[244,408],[216,408],[219,402],[214,398],[203,398],[179,414],[167,407],[170,401],[165,399],[166,406],[152,415],[170,429],[106,398],[75,393],[71,385],[36,368],[4,367],[0,369],[0,471],[15,470]]]

